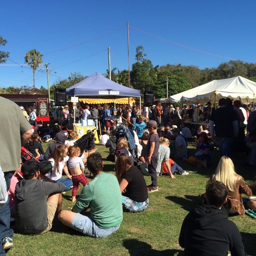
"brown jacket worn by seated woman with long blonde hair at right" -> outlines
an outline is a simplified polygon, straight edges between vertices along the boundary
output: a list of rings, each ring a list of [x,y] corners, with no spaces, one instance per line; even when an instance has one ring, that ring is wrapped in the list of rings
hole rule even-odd
[[[242,178],[239,178],[236,181],[234,192],[228,190],[228,200],[229,200],[229,209],[234,212],[239,213],[240,215],[245,214],[245,208],[242,203],[242,194],[246,194],[247,196],[252,195],[251,189],[244,183]]]

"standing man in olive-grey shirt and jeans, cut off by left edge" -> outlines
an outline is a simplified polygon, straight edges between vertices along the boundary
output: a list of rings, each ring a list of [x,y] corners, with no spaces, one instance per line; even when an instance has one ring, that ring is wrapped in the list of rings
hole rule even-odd
[[[32,135],[31,125],[22,113],[21,108],[14,102],[0,97],[0,165],[4,172],[7,190],[10,187],[11,177],[20,167],[21,146],[25,145]],[[18,139],[20,138],[20,139]],[[14,231],[10,229],[10,207],[8,202],[0,208],[0,234],[2,247],[13,247]],[[5,255],[2,247],[0,255]]]

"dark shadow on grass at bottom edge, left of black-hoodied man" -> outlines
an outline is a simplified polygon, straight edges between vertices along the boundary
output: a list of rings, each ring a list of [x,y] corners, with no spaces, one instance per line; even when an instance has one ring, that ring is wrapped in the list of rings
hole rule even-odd
[[[181,256],[183,255],[182,250],[164,250],[158,251],[152,249],[150,244],[139,241],[137,239],[125,239],[123,240],[123,246],[129,251],[130,256],[141,256],[141,255],[154,255],[154,256]]]

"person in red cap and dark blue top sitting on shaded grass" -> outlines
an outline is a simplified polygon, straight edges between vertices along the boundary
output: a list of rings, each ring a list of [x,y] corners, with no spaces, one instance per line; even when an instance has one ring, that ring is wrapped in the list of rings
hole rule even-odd
[[[196,154],[195,156],[190,156],[188,161],[196,165],[198,168],[204,167],[207,168],[210,165],[210,148],[208,143],[208,137],[205,132],[198,134],[199,140],[196,141]]]

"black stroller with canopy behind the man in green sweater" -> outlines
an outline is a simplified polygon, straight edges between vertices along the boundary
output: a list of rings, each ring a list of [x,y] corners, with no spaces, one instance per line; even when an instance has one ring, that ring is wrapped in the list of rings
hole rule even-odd
[[[74,146],[78,146],[80,148],[80,155],[79,157],[84,153],[84,151],[89,151],[89,155],[90,155],[90,150],[93,149],[94,147],[94,141],[95,141],[95,137],[94,137],[94,132],[96,129],[92,130],[90,133],[87,133],[85,135],[83,135],[80,139],[76,140],[76,142],[74,143]],[[85,164],[85,177],[88,178],[91,176],[91,171],[87,169],[87,166]]]

